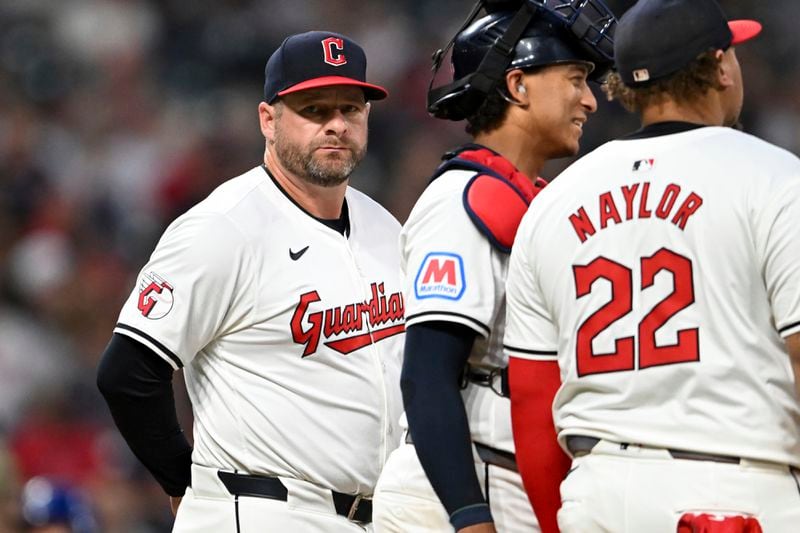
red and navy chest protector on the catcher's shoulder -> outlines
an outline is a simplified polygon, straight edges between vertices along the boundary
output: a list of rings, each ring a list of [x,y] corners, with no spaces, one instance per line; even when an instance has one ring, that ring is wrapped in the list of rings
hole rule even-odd
[[[448,156],[431,180],[448,170],[477,172],[464,188],[464,209],[495,248],[510,253],[522,216],[547,182],[531,182],[506,158],[479,145],[463,146]]]

